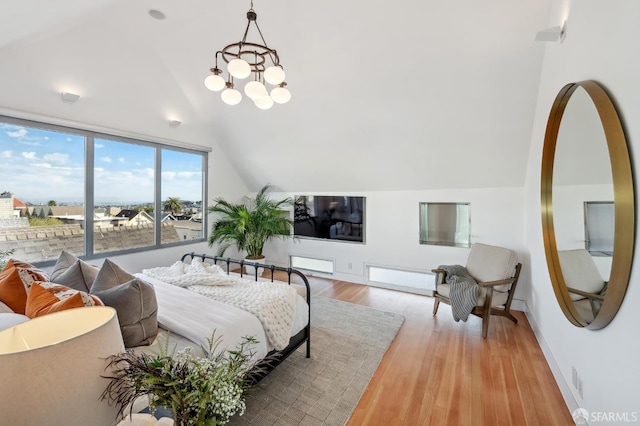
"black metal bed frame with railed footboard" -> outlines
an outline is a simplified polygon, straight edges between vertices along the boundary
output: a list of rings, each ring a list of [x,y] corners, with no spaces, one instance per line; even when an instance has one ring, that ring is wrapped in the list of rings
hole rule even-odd
[[[297,350],[300,346],[302,346],[302,344],[304,344],[306,342],[307,344],[307,354],[306,357],[310,358],[311,357],[311,287],[309,286],[309,281],[307,280],[307,277],[300,272],[297,269],[293,269],[293,268],[284,268],[282,266],[276,266],[276,265],[268,265],[268,264],[262,264],[262,263],[257,263],[257,262],[250,262],[247,260],[239,260],[239,259],[232,259],[230,257],[219,257],[219,256],[211,256],[208,254],[197,254],[195,252],[191,252],[191,253],[186,253],[184,254],[180,260],[182,262],[185,261],[185,259],[187,258],[200,258],[202,259],[202,261],[204,262],[205,259],[209,259],[211,261],[213,261],[214,264],[218,264],[218,262],[222,262],[225,263],[227,265],[226,267],[226,272],[227,275],[231,272],[231,265],[238,265],[240,267],[240,277],[243,278],[245,275],[249,276],[249,274],[244,274],[244,266],[253,266],[255,269],[255,273],[251,274],[253,276],[254,281],[259,282],[258,278],[262,277],[262,273],[258,274],[258,270],[262,269],[263,271],[270,271],[271,272],[271,281],[274,281],[273,278],[273,274],[275,271],[280,271],[280,272],[286,272],[287,274],[287,284],[291,285],[291,275],[295,275],[297,277],[300,277],[302,279],[302,282],[305,285],[306,288],[306,301],[307,301],[307,306],[309,309],[308,315],[309,315],[309,321],[307,321],[307,325],[305,326],[305,328],[303,328],[302,330],[300,330],[298,332],[298,334],[296,334],[295,336],[291,337],[291,340],[289,340],[289,345],[284,348],[283,350],[280,351],[276,351],[276,350],[272,350],[271,352],[269,352],[266,356],[266,360],[267,362],[265,363],[264,366],[262,366],[262,368],[260,369],[260,372],[253,375],[251,377],[251,381],[253,383],[257,383],[260,380],[262,380],[263,377],[265,377],[271,370],[273,370],[274,368],[276,368],[278,365],[280,365],[280,363],[282,361],[284,361],[285,359],[287,359],[287,357],[289,355],[291,355],[295,350]]]

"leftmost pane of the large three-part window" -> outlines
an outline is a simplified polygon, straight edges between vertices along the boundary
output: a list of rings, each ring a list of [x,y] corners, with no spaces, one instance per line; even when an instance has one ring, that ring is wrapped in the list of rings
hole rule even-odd
[[[71,131],[0,120],[0,251],[26,261],[57,258],[60,250],[47,238],[61,233],[67,251],[85,254],[85,144]],[[27,244],[29,229],[39,241]]]

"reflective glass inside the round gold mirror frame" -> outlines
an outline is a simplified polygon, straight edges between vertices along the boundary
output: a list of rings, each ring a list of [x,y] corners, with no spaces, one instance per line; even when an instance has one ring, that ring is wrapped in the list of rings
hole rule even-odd
[[[569,296],[588,323],[602,306],[611,272],[615,224],[613,209],[603,207],[607,205],[613,206],[607,140],[595,105],[578,87],[567,103],[558,131],[553,222]]]

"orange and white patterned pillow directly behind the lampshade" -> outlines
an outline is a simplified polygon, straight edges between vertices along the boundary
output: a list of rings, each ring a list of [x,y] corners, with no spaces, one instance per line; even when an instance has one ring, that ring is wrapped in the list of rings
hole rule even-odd
[[[29,318],[35,318],[83,306],[103,306],[103,303],[99,298],[84,291],[56,283],[34,282],[27,296],[25,314]]]

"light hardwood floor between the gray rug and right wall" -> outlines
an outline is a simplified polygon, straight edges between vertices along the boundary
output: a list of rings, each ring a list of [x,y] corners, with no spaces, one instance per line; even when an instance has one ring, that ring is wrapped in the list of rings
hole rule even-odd
[[[483,339],[475,316],[456,323],[445,304],[432,316],[432,297],[309,281],[312,295],[405,317],[348,426],[574,424],[524,313],[492,317]]]

